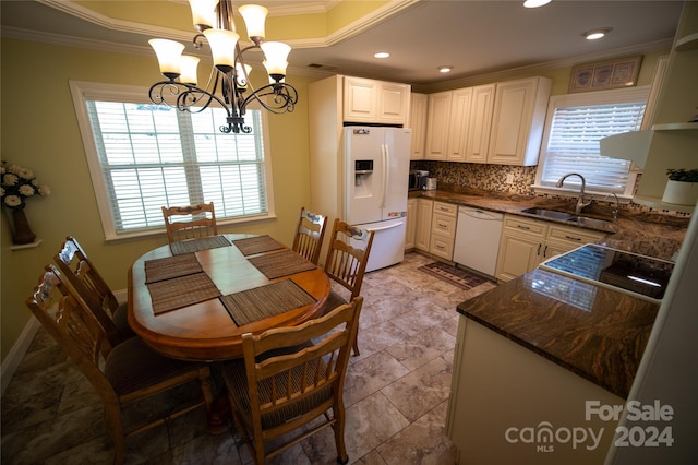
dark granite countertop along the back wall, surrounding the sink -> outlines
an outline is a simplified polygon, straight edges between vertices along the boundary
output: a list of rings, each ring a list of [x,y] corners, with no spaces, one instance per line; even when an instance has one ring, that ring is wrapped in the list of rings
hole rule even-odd
[[[576,198],[549,199],[534,195],[480,191],[455,186],[447,186],[443,189],[440,186],[438,190],[433,191],[412,191],[409,193],[409,196],[422,196],[441,202],[526,216],[531,219],[581,227],[552,218],[543,219],[521,212],[530,207],[541,207],[574,214]],[[606,234],[606,237],[599,241],[600,245],[662,260],[673,259],[684,240],[690,220],[689,216],[647,213],[628,208],[625,205],[621,207],[618,218],[613,219],[611,210],[612,207],[604,203],[591,205],[582,212],[582,216],[609,222],[609,225],[603,227],[588,228]]]

